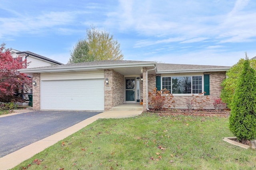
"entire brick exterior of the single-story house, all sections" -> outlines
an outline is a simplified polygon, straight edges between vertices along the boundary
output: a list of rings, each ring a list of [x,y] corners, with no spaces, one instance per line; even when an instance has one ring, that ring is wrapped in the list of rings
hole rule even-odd
[[[143,98],[143,111],[146,111],[146,68],[143,68],[143,82],[140,82],[140,98]],[[212,108],[213,97],[220,98],[222,87],[221,82],[226,78],[226,72],[205,72],[210,74],[210,104]],[[156,76],[160,74],[148,75],[148,92],[156,86]],[[109,84],[104,82],[104,111],[112,110],[112,107],[124,104],[124,75],[112,70],[104,70],[104,80],[108,78]],[[33,80],[37,86],[33,86],[33,109],[40,110],[40,73],[33,74]],[[202,96],[205,98],[205,96]],[[174,96],[176,108],[186,108],[186,96]]]

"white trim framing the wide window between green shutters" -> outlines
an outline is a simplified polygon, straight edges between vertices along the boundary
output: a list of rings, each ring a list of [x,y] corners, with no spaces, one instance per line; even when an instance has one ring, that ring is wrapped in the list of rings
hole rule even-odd
[[[202,93],[204,92],[204,74],[166,74],[166,75],[161,75],[161,89],[163,88],[163,77],[186,77],[186,76],[202,76]],[[191,78],[192,79],[192,78]],[[191,89],[192,89],[192,83],[191,83]],[[191,90],[192,91],[192,90]],[[171,93],[171,92],[170,92]],[[172,94],[173,96],[192,96],[193,94]],[[204,96],[204,94],[194,94],[194,96]]]

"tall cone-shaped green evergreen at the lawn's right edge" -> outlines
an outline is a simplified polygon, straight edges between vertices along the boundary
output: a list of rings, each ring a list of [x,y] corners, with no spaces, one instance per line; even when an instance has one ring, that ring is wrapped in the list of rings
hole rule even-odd
[[[256,75],[246,55],[229,117],[230,131],[242,143],[256,139]]]

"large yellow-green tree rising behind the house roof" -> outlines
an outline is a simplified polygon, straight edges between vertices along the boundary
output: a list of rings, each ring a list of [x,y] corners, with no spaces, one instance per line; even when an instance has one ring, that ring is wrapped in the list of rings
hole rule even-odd
[[[120,44],[114,36],[94,25],[87,29],[85,39],[78,40],[70,55],[68,63],[124,59]]]

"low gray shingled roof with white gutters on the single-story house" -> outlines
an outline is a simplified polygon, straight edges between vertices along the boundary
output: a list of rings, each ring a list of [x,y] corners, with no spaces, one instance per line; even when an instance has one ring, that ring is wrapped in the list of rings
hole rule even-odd
[[[71,63],[54,66],[44,66],[37,68],[21,69],[22,72],[27,73],[43,73],[43,72],[69,72],[69,71],[93,71],[114,69],[123,75],[132,73],[130,75],[142,74],[142,68],[152,69],[150,74],[168,74],[168,73],[182,73],[182,72],[214,72],[227,71],[230,66],[208,66],[208,65],[191,65],[191,64],[163,64],[155,61],[126,61],[126,60],[104,60],[92,61],[85,63]],[[154,70],[156,67],[156,70]]]

